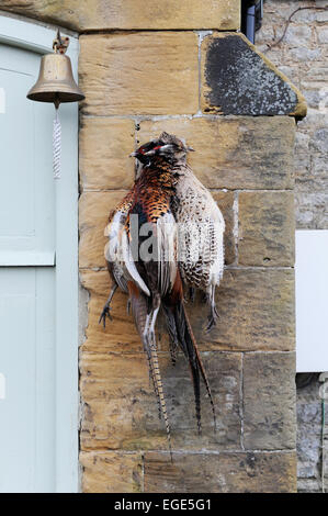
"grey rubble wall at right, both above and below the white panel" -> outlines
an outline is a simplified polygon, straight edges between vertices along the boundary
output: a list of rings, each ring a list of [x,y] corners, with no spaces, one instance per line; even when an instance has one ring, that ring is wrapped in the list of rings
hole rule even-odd
[[[302,89],[307,104],[306,119],[298,122],[295,146],[296,228],[328,228],[328,11],[302,10],[295,13],[284,40],[272,49],[292,12],[298,7],[327,9],[327,1],[265,0],[258,48]],[[297,388],[297,489],[321,491],[321,400],[317,377]],[[326,415],[326,422],[327,422]],[[327,426],[327,424],[326,424]],[[327,428],[326,428],[327,434]],[[327,440],[327,439],[326,439]],[[327,449],[327,442],[326,442]],[[324,469],[328,471],[326,452]],[[326,479],[327,485],[327,479]],[[326,487],[327,489],[327,487]]]

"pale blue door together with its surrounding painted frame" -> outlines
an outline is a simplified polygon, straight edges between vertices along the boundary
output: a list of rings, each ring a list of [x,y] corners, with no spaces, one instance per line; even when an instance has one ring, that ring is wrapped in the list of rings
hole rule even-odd
[[[0,492],[77,490],[77,108],[59,184],[54,106],[26,99],[54,34],[0,16]]]

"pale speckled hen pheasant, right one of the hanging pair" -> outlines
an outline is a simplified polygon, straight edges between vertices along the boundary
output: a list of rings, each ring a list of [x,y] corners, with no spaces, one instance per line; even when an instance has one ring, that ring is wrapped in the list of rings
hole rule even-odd
[[[179,268],[181,278],[191,289],[205,292],[211,306],[207,329],[217,317],[215,289],[224,271],[225,222],[210,191],[186,165],[186,154],[193,150],[174,135],[162,133],[158,139],[134,153],[143,164],[149,158],[154,166],[159,159],[170,164],[174,175],[174,195],[171,209],[179,223]]]

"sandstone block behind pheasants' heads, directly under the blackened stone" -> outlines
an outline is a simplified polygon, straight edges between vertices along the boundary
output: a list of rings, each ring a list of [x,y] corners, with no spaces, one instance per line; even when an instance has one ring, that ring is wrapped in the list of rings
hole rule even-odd
[[[207,188],[293,187],[295,122],[289,116],[143,121],[138,143],[162,131],[185,138],[195,149],[189,164]]]

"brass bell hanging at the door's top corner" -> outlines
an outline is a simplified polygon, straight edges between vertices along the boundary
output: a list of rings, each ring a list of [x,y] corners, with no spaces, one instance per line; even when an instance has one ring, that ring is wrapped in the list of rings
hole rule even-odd
[[[70,59],[65,55],[68,43],[69,38],[61,38],[58,31],[53,44],[55,53],[42,57],[38,79],[29,91],[27,99],[54,102],[58,108],[61,102],[86,98],[73,79]]]

